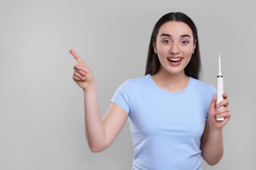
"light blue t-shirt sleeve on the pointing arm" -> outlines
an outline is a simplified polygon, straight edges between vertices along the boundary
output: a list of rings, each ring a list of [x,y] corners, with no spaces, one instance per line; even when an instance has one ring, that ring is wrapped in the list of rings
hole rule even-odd
[[[114,93],[112,99],[110,100],[111,103],[116,103],[120,107],[122,107],[127,114],[130,112],[130,82],[129,80],[123,82],[119,88],[117,88],[116,92]]]

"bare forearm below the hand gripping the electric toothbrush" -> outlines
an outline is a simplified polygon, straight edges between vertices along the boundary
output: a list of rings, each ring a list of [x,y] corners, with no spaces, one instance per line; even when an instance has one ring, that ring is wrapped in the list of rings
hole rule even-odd
[[[223,133],[222,129],[209,129],[209,135],[202,148],[202,156],[209,165],[215,165],[223,157]]]

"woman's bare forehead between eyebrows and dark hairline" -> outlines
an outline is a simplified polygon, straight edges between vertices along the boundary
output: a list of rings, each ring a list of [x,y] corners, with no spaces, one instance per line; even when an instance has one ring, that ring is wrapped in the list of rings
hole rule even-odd
[[[193,35],[192,29],[185,24],[184,22],[165,22],[165,24],[161,25],[158,35],[162,33],[168,33],[170,35]]]

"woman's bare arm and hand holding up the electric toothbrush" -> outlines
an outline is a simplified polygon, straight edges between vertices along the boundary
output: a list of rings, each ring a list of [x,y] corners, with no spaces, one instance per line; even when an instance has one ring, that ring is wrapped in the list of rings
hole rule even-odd
[[[217,105],[218,108],[224,106],[223,109],[216,109],[216,95],[213,96],[211,105],[209,106],[209,120],[205,123],[205,130],[201,140],[201,150],[203,159],[209,165],[217,164],[223,157],[223,126],[230,119],[230,111],[228,110],[228,99],[226,93],[223,94],[224,100]],[[224,117],[223,121],[216,120],[216,116]]]

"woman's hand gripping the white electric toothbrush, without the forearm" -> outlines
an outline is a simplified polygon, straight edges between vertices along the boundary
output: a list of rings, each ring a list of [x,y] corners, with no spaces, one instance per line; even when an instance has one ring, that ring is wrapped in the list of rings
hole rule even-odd
[[[209,125],[210,127],[221,129],[231,117],[231,112],[228,109],[228,95],[226,93],[223,93],[223,101],[217,103],[217,105],[216,101],[217,96],[214,95],[209,106]],[[223,108],[219,110],[217,109],[221,107]],[[216,118],[224,118],[224,120],[216,120]]]

